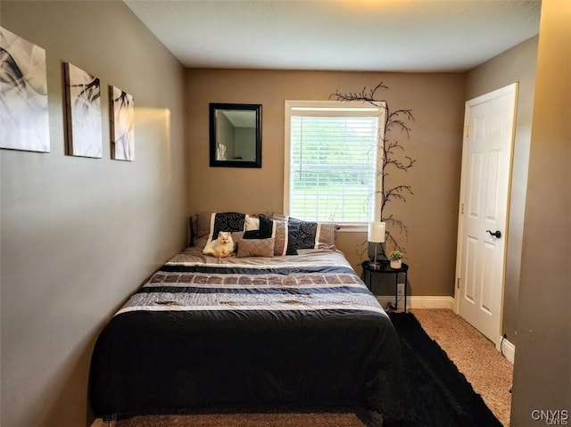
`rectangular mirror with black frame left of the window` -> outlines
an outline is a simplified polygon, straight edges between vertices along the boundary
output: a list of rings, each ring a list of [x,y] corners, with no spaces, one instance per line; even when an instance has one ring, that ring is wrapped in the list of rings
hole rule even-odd
[[[210,104],[211,166],[261,168],[261,104]]]

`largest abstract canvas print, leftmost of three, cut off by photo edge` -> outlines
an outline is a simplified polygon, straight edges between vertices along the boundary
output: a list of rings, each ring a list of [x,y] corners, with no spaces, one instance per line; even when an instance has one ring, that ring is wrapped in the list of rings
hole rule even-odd
[[[0,148],[50,151],[46,51],[0,27]]]

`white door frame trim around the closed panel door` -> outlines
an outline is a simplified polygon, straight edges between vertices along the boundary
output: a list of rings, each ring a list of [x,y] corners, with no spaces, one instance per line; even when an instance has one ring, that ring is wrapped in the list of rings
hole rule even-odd
[[[463,202],[466,195],[466,185],[467,183],[467,165],[468,165],[468,131],[469,131],[469,107],[471,104],[476,104],[482,102],[485,98],[491,95],[501,95],[501,94],[514,94],[514,113],[512,120],[512,136],[511,136],[511,146],[509,152],[509,177],[508,177],[508,193],[506,195],[506,212],[505,212],[505,227],[502,231],[502,239],[505,239],[505,250],[502,259],[502,280],[501,280],[501,301],[500,301],[500,313],[499,313],[499,324],[497,325],[497,333],[495,340],[493,341],[494,346],[498,351],[501,350],[501,328],[503,324],[503,313],[504,313],[504,300],[505,300],[505,288],[506,288],[506,264],[508,259],[508,242],[509,242],[509,209],[511,201],[511,183],[513,175],[513,161],[514,161],[514,148],[516,142],[516,123],[517,123],[517,97],[518,97],[519,84],[517,82],[512,83],[508,86],[503,86],[499,89],[492,90],[486,94],[481,94],[468,100],[465,103],[464,108],[464,125],[462,127],[462,163],[460,172],[460,193],[459,193],[459,206],[458,206],[458,234],[456,241],[456,272],[454,275],[454,313],[459,315],[459,304],[460,304],[460,292],[459,292],[459,275],[462,262],[462,230],[464,228],[464,213],[463,213]]]

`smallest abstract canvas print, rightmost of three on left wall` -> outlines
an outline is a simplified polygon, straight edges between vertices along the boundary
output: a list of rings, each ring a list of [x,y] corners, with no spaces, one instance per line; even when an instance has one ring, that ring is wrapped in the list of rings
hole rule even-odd
[[[111,103],[111,157],[135,160],[135,104],[133,96],[109,86]]]

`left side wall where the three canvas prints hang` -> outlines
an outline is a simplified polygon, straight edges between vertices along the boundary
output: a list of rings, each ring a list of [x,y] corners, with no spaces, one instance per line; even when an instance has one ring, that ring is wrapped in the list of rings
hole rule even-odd
[[[121,2],[7,2],[46,49],[50,153],[0,151],[2,415],[87,425],[97,333],[186,241],[184,72]],[[103,159],[64,155],[62,62],[101,79]],[[110,160],[107,85],[135,97],[136,160]]]

